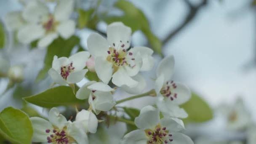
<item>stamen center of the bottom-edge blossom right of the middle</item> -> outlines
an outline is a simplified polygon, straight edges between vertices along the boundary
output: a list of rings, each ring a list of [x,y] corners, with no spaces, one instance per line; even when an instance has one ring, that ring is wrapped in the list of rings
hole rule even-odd
[[[157,125],[154,130],[147,129],[145,133],[149,137],[147,144],[168,144],[169,141],[173,141],[172,135],[161,125]]]

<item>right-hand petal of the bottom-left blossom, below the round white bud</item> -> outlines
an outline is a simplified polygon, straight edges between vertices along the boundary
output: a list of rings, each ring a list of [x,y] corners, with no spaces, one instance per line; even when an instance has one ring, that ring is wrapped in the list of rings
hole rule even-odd
[[[77,144],[89,144],[87,134],[81,128],[77,128],[74,123],[68,125],[67,133],[75,139]]]

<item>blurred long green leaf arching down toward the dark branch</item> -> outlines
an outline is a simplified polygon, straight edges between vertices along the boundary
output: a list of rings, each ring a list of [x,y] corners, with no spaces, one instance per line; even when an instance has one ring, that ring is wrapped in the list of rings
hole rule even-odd
[[[123,10],[125,14],[123,16],[106,17],[104,20],[108,24],[114,21],[122,21],[128,27],[131,27],[133,32],[141,30],[147,37],[152,49],[162,55],[162,43],[150,30],[149,21],[144,13],[131,2],[125,0],[118,0],[117,3],[115,3],[115,7]]]

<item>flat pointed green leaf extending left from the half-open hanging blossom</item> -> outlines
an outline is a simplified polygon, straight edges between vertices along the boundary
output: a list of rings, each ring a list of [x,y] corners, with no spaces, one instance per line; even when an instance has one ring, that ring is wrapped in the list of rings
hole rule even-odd
[[[58,86],[51,88],[43,93],[25,97],[24,100],[37,106],[47,108],[85,103],[85,100],[80,100],[75,97],[72,88],[69,86]]]

